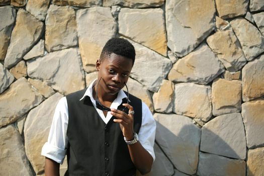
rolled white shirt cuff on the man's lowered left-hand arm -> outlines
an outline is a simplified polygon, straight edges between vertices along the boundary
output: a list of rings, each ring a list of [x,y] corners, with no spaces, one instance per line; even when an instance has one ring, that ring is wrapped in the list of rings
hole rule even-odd
[[[66,150],[50,145],[46,142],[42,147],[41,155],[62,164],[66,155]]]

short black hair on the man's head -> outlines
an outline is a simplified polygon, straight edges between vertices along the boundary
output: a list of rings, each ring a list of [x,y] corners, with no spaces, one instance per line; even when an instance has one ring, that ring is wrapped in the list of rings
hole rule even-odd
[[[136,52],[134,46],[126,39],[112,38],[108,40],[101,52],[100,59],[104,60],[106,56],[112,53],[132,59],[134,65]]]

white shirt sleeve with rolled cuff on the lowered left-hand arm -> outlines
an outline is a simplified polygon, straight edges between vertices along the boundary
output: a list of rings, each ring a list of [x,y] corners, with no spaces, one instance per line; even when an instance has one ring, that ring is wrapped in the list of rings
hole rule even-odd
[[[68,107],[67,99],[63,97],[59,100],[49,131],[48,141],[43,145],[41,155],[44,155],[60,164],[63,163],[66,154],[68,127]]]

